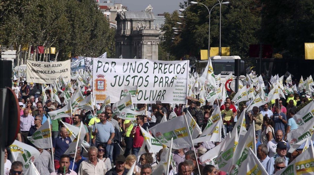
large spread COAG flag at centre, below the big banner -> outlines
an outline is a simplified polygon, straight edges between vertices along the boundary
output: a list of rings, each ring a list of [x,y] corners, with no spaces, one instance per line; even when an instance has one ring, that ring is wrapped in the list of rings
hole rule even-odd
[[[173,138],[173,149],[187,148],[193,144],[184,115],[157,124],[149,130],[160,143],[166,146],[170,146],[171,138]]]

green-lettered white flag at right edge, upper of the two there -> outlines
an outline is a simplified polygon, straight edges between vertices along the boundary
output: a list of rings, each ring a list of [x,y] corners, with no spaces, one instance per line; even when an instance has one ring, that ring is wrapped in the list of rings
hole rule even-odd
[[[314,100],[308,103],[300,111],[298,111],[294,116],[296,124],[303,125],[310,121],[314,117]]]

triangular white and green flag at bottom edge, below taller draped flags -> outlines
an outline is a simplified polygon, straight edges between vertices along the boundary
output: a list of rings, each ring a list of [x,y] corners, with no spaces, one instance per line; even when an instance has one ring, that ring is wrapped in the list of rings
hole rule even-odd
[[[247,158],[242,162],[242,166],[238,169],[237,174],[268,174],[261,162],[257,159],[252,149],[247,153]]]

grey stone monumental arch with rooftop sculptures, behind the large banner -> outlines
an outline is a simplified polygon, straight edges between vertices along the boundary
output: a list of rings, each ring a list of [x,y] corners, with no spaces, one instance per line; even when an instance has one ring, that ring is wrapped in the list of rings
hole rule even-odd
[[[158,60],[160,31],[154,26],[155,16],[149,6],[142,12],[118,11],[116,56]]]

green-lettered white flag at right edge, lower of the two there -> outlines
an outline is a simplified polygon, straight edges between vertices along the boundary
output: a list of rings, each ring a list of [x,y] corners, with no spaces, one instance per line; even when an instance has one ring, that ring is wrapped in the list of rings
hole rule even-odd
[[[314,132],[314,119],[311,119],[309,122],[306,122],[304,125],[299,125],[297,129],[290,131],[287,134],[287,139],[290,143],[290,146],[311,137]]]

